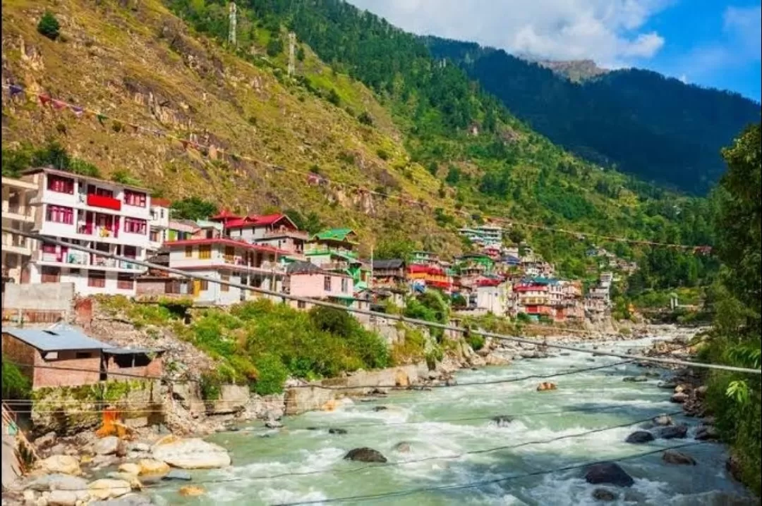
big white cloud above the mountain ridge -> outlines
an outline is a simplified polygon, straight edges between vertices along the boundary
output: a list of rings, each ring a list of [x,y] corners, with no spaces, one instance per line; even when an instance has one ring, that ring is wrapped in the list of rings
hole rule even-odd
[[[658,53],[644,25],[674,0],[349,0],[415,33],[619,67]]]

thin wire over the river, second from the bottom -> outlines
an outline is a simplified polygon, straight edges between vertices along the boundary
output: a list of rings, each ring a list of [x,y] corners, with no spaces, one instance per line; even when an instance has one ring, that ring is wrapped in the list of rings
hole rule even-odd
[[[671,415],[678,415],[680,412],[671,412],[668,413],[668,416]],[[523,443],[517,443],[517,444],[507,444],[507,445],[501,445],[497,447],[489,447],[489,448],[482,448],[480,450],[469,450],[464,451],[462,453],[456,453],[453,455],[442,455],[442,456],[432,456],[432,457],[422,457],[420,459],[412,459],[412,460],[398,460],[394,462],[384,462],[384,463],[374,463],[369,466],[360,466],[354,469],[344,469],[344,470],[333,470],[333,469],[319,469],[315,471],[304,471],[302,473],[279,473],[276,475],[270,475],[270,476],[246,476],[245,478],[231,478],[231,479],[221,479],[221,480],[208,480],[208,481],[202,481],[200,483],[219,483],[219,482],[239,482],[239,481],[246,481],[246,480],[253,480],[253,479],[277,479],[277,478],[285,478],[290,476],[314,476],[314,475],[320,475],[320,474],[351,474],[351,473],[359,473],[360,471],[364,471],[365,469],[379,469],[383,467],[395,467],[395,466],[407,466],[409,464],[415,464],[415,463],[421,463],[421,462],[428,462],[431,460],[455,460],[462,457],[466,457],[469,455],[480,455],[483,453],[493,453],[495,451],[501,451],[501,450],[514,450],[516,448],[520,447],[527,447],[527,446],[533,446],[536,444],[550,444],[554,443],[555,441],[562,441],[565,439],[573,439],[573,438],[581,438],[583,436],[588,436],[590,434],[597,434],[599,432],[604,431],[610,431],[615,428],[624,428],[624,427],[630,427],[632,425],[636,425],[639,423],[644,422],[650,422],[654,417],[649,418],[643,418],[640,420],[636,420],[634,422],[627,422],[620,425],[607,425],[606,427],[601,428],[594,428],[589,431],[583,431],[578,432],[575,434],[566,434],[563,436],[556,436],[555,438],[550,439],[544,439],[544,440],[536,440],[536,441],[524,441]]]

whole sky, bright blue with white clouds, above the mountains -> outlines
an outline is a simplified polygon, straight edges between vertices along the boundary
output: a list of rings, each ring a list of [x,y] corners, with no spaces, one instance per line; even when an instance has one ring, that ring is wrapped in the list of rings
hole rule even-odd
[[[544,59],[635,66],[760,100],[751,0],[349,0],[415,33]]]

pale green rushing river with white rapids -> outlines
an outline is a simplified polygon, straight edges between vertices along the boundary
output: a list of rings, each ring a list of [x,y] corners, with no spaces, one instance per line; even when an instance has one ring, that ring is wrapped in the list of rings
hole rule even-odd
[[[647,344],[645,339],[606,343],[600,349],[624,351]],[[457,387],[392,393],[371,402],[347,401],[334,412],[284,418],[285,429],[280,431],[268,431],[255,422],[241,431],[210,438],[231,451],[233,465],[194,472],[194,483],[206,488],[207,495],[181,498],[178,488],[184,483],[174,482],[155,490],[155,501],[322,504],[330,498],[373,495],[373,501],[350,498],[340,504],[601,504],[592,496],[600,485],[589,485],[584,470],[572,467],[619,459],[624,459],[619,463],[635,484],[608,487],[617,498],[607,504],[708,506],[728,504],[725,494],[746,496],[744,488],[725,471],[725,447],[691,437],[699,422],[695,418],[673,415],[676,423],[690,426],[685,439],[624,442],[639,422],[680,411],[680,406],[669,402],[671,390],[656,387],[658,377],[644,383],[623,381],[623,377],[643,373],[636,365],[619,364],[552,378],[549,380],[557,383],[558,389],[546,392],[536,391],[538,379],[463,385],[618,361],[589,354],[558,354],[517,361],[508,367],[461,371],[456,375]],[[668,376],[668,372],[663,374]],[[374,410],[376,406],[386,409]],[[495,415],[515,418],[498,426],[490,419]],[[328,434],[328,428],[344,428],[347,434]],[[409,451],[395,450],[401,442],[409,444]],[[655,451],[677,446],[684,446],[679,451],[692,456],[697,465],[664,463],[661,451]],[[379,450],[392,464],[343,460],[347,450],[355,447]],[[493,450],[495,447],[502,449]],[[655,453],[638,457],[648,452]],[[552,472],[562,468],[571,469]],[[262,478],[283,474],[290,476]],[[497,481],[509,476],[513,478]],[[458,488],[475,482],[482,484]],[[391,492],[405,493],[386,495]]]

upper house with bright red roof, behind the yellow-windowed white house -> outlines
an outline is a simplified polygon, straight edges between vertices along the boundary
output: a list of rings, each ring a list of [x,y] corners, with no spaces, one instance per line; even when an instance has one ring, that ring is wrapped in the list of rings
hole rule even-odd
[[[304,259],[304,243],[309,236],[299,231],[287,215],[249,215],[226,221],[225,231],[233,239],[270,246],[287,252],[294,259]]]

